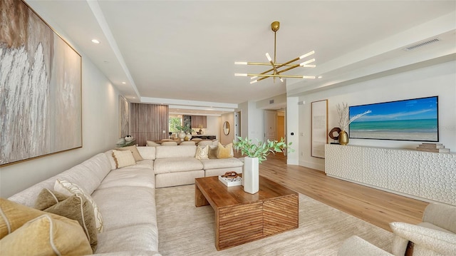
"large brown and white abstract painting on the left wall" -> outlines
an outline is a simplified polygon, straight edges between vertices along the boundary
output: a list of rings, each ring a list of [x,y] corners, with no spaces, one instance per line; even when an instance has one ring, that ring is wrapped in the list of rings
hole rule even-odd
[[[81,148],[81,55],[24,1],[0,6],[0,165]]]

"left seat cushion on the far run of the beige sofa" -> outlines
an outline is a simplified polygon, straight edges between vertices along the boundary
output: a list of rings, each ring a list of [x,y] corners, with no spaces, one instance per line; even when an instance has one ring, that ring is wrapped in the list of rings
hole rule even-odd
[[[187,146],[178,146],[187,147]],[[192,147],[192,146],[190,146]],[[196,147],[195,147],[196,148]],[[202,163],[192,155],[191,158],[157,158],[154,162],[155,174],[158,173],[177,173],[187,170],[202,170]]]

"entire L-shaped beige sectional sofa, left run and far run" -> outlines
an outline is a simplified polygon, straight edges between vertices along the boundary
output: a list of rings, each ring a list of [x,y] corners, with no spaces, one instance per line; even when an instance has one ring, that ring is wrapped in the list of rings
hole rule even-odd
[[[113,158],[113,150],[108,150],[32,185],[8,198],[8,202],[33,208],[43,189],[54,190],[56,180],[66,180],[78,185],[100,213],[103,230],[96,236],[95,255],[160,255],[155,188],[192,184],[195,178],[218,175],[225,170],[242,171],[242,162],[237,158],[195,158],[195,145],[133,149],[138,150],[142,160],[133,160],[133,164],[117,168],[120,160]],[[0,234],[14,234],[17,222],[14,228],[7,228],[15,221],[8,213],[14,212],[6,209],[4,203],[0,206]],[[97,217],[96,211],[94,215]],[[1,246],[6,248],[4,246],[8,245]]]

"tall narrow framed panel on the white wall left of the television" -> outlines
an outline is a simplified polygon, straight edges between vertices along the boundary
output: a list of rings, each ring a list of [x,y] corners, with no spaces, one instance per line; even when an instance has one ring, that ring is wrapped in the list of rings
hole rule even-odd
[[[312,102],[312,156],[325,158],[328,143],[328,100]]]

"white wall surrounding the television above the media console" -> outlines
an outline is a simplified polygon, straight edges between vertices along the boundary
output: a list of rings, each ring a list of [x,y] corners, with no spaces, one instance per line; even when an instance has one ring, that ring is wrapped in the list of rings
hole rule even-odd
[[[324,170],[324,159],[311,157],[311,102],[328,99],[328,130],[338,127],[336,105],[349,106],[385,101],[405,100],[439,96],[439,135],[440,143],[456,152],[456,61],[385,76],[370,81],[355,83],[328,91],[299,96],[306,104],[299,106],[299,165]],[[331,142],[331,138],[328,140]],[[350,145],[366,145],[385,148],[416,148],[417,141],[402,140],[361,140],[350,139]]]

